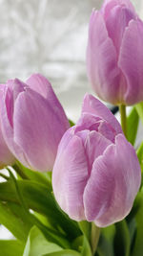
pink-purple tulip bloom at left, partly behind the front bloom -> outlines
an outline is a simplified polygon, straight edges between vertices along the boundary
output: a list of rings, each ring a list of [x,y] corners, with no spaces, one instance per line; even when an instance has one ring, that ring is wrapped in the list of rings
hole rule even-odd
[[[8,81],[1,123],[10,151],[23,165],[51,171],[60,139],[70,125],[46,78],[36,74],[26,83]]]

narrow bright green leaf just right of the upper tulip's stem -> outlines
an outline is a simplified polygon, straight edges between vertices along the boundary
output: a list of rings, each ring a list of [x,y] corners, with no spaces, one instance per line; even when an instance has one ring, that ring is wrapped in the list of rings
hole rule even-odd
[[[128,138],[128,141],[130,143],[132,143],[133,145],[134,145],[135,138],[136,138],[138,123],[139,123],[139,117],[138,117],[135,107],[133,107],[133,109],[127,119],[127,128],[128,128],[127,138]]]

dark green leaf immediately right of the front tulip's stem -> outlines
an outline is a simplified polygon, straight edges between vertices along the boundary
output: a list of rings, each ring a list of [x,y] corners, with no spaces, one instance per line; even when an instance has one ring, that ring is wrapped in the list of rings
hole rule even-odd
[[[101,229],[99,244],[97,246],[97,253],[99,256],[114,255],[114,251],[113,251],[114,236],[115,236],[114,224]]]

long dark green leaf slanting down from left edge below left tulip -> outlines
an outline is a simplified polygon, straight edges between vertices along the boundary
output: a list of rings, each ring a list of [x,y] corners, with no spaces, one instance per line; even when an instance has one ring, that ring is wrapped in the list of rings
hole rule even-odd
[[[30,180],[17,180],[17,184],[29,209],[47,217],[56,230],[63,230],[63,233],[67,234],[69,241],[81,235],[77,223],[59,210],[46,186]],[[19,203],[11,181],[0,183],[0,200]]]

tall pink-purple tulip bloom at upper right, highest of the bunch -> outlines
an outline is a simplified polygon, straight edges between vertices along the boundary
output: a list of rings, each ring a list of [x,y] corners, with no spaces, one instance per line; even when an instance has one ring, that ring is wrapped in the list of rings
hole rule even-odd
[[[129,0],[106,0],[93,11],[87,48],[95,93],[113,105],[143,101],[143,22]]]

